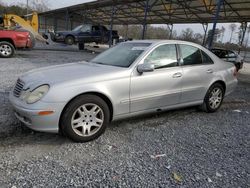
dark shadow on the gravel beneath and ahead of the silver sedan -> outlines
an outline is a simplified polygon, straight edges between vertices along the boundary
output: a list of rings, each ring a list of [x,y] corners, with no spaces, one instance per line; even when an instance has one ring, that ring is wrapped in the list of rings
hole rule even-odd
[[[185,108],[179,110],[171,110],[157,113],[150,113],[146,115],[140,115],[136,117],[131,117],[127,119],[121,119],[118,121],[112,122],[108,127],[107,131],[114,131],[114,129],[124,128],[130,125],[137,125],[140,122],[149,122],[143,123],[143,126],[147,127],[157,127],[164,121],[165,118],[175,118],[177,116],[192,113],[197,111],[196,108]],[[10,118],[14,118],[10,116]],[[62,145],[67,143],[73,143],[70,139],[65,137],[62,134],[52,134],[37,132],[27,128],[22,123],[17,120],[13,120],[13,123],[10,125],[11,128],[7,131],[0,132],[0,147],[4,146],[22,146],[22,145]]]

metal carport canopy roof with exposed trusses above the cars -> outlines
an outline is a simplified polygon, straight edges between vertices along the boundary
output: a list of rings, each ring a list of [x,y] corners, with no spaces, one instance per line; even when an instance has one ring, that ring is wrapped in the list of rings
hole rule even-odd
[[[250,20],[250,0],[98,0],[43,12],[39,16],[107,25],[113,10],[116,25],[211,23],[218,1],[221,1],[218,23]]]

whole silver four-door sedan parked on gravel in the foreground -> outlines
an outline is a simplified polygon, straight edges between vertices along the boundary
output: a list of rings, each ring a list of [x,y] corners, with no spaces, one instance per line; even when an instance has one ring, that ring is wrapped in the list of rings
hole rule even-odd
[[[234,65],[200,45],[132,41],[90,62],[30,71],[9,98],[31,129],[86,142],[125,117],[187,106],[215,112],[236,85]]]

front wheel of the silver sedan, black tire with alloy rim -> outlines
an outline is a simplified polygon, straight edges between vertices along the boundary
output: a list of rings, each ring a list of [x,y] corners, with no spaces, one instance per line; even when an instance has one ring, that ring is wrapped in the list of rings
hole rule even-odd
[[[64,110],[60,128],[75,142],[88,142],[104,133],[110,120],[106,102],[95,95],[81,95]]]

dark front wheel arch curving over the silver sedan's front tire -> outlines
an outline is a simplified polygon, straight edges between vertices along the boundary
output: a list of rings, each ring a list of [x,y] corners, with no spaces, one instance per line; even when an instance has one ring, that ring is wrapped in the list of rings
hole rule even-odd
[[[90,91],[90,92],[85,92],[85,93],[80,93],[78,95],[76,95],[75,97],[73,97],[72,99],[70,99],[67,104],[64,106],[61,114],[60,114],[60,119],[59,119],[59,130],[61,130],[61,119],[62,119],[62,115],[63,113],[65,112],[65,110],[67,109],[67,106],[73,101],[75,100],[77,97],[80,97],[82,95],[95,95],[95,96],[98,96],[100,97],[101,99],[104,100],[104,102],[106,102],[106,104],[108,105],[108,108],[109,108],[109,111],[110,111],[110,120],[109,121],[112,121],[113,119],[113,104],[110,100],[109,97],[107,97],[107,95],[103,94],[103,93],[100,93],[100,92],[96,92],[96,91]]]

